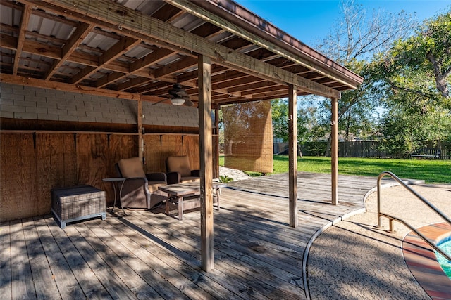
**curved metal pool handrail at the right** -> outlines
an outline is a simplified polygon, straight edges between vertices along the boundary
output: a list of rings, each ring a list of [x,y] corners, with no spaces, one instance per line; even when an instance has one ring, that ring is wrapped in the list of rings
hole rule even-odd
[[[434,242],[432,242],[431,240],[429,240],[427,237],[425,237],[422,233],[420,233],[418,230],[416,230],[415,228],[413,228],[409,223],[407,223],[406,221],[399,219],[395,216],[390,216],[389,214],[385,214],[383,212],[381,212],[381,181],[382,178],[384,176],[390,176],[391,178],[395,179],[395,181],[397,181],[398,183],[400,183],[400,185],[402,185],[404,188],[406,188],[407,190],[409,190],[410,193],[412,193],[413,195],[415,195],[419,200],[421,200],[422,202],[424,202],[424,204],[426,204],[430,209],[432,209],[433,211],[435,211],[435,213],[437,213],[438,215],[440,215],[450,226],[451,226],[451,219],[448,218],[447,215],[443,214],[442,211],[440,211],[440,209],[438,209],[437,207],[435,207],[433,204],[431,204],[431,202],[428,202],[428,200],[426,200],[423,196],[419,195],[419,193],[416,193],[415,190],[413,190],[412,188],[410,188],[406,183],[404,183],[404,181],[402,181],[399,177],[397,177],[395,174],[393,174],[392,172],[389,171],[383,171],[381,174],[379,174],[378,176],[378,185],[377,185],[377,190],[378,190],[378,228],[381,228],[381,216],[385,216],[386,218],[388,218],[389,221],[389,225],[390,225],[390,232],[393,232],[393,220],[398,221],[402,224],[404,224],[404,226],[407,226],[410,230],[412,230],[414,233],[416,233],[416,235],[418,235],[419,237],[421,237],[422,240],[424,240],[424,242],[427,242],[429,244],[429,246],[433,247],[433,249],[435,249],[438,253],[442,254],[443,256],[445,256],[445,258],[448,261],[451,261],[451,256],[446,254],[445,252],[443,252]]]

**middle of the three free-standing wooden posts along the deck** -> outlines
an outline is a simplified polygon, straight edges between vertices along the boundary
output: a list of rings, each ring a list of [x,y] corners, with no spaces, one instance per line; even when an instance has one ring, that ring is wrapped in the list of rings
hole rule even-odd
[[[288,85],[288,183],[290,193],[290,226],[297,227],[297,98],[296,88]]]

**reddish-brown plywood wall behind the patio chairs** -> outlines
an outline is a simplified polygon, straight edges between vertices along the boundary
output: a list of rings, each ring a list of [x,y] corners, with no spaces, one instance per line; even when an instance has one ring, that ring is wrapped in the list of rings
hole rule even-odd
[[[119,159],[137,157],[142,150],[137,135],[107,133],[1,133],[0,221],[51,213],[51,188],[92,185],[114,195]],[[162,134],[144,136],[145,172],[166,171],[170,155],[188,155],[199,169],[199,136]]]

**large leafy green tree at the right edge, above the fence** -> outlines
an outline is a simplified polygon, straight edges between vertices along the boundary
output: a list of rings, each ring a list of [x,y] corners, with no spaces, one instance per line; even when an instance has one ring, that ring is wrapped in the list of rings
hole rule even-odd
[[[451,11],[426,20],[369,65],[373,93],[386,108],[385,150],[406,157],[428,141],[451,140],[450,71]]]

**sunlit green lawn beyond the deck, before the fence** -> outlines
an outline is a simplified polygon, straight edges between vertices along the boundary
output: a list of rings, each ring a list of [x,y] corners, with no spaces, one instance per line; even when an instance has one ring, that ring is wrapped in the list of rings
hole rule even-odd
[[[224,165],[224,157],[219,158]],[[277,155],[273,160],[272,174],[288,172],[288,156]],[[330,157],[302,157],[297,159],[297,170],[314,173],[330,173]],[[438,159],[378,159],[340,157],[338,173],[343,175],[377,177],[383,171],[393,172],[400,178],[422,179],[426,183],[451,183],[451,161]],[[257,172],[246,172],[261,176]]]

